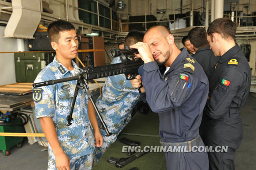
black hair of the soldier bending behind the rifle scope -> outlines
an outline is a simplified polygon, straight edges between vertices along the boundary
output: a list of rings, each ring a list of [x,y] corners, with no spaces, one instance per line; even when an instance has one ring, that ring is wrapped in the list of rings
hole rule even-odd
[[[144,32],[139,31],[137,29],[133,29],[133,30],[129,31],[129,33],[125,37],[124,45],[131,46],[138,42],[143,42],[144,34],[145,34]]]

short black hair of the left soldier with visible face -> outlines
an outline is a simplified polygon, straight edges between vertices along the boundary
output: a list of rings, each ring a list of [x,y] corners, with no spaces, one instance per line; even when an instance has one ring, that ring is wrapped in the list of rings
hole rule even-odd
[[[58,43],[60,39],[60,32],[70,31],[71,29],[75,30],[75,27],[70,22],[64,20],[57,20],[53,21],[48,25],[47,32],[50,37],[50,41]]]

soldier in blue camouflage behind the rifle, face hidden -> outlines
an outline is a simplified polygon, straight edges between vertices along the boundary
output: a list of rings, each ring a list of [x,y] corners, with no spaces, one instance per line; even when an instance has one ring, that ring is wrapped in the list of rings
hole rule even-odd
[[[144,32],[132,30],[125,38],[125,46],[143,41]],[[119,57],[114,58],[111,64],[121,63]],[[131,112],[139,100],[139,91],[132,87],[131,82],[126,80],[125,75],[109,76],[103,86],[102,94],[97,99],[97,107],[106,123],[108,130],[112,133],[106,137],[105,131],[101,129],[104,138],[101,147],[95,149],[97,158],[108,149],[109,145],[117,139],[117,135],[131,120]]]

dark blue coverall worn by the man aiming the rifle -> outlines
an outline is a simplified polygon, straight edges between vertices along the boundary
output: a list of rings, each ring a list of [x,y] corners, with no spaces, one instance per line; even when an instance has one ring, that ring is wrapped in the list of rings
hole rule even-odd
[[[177,56],[170,69],[161,75],[157,62],[139,68],[146,93],[143,101],[159,115],[162,142],[181,143],[201,141],[199,126],[208,96],[208,79],[199,63],[186,49]],[[204,146],[201,141],[200,146]],[[207,153],[165,153],[167,169],[208,170]]]

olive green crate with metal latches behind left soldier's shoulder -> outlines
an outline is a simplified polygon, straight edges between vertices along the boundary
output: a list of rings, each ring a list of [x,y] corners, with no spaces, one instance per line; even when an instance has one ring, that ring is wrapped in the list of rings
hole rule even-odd
[[[54,59],[53,52],[15,53],[17,83],[33,83],[38,73]]]

